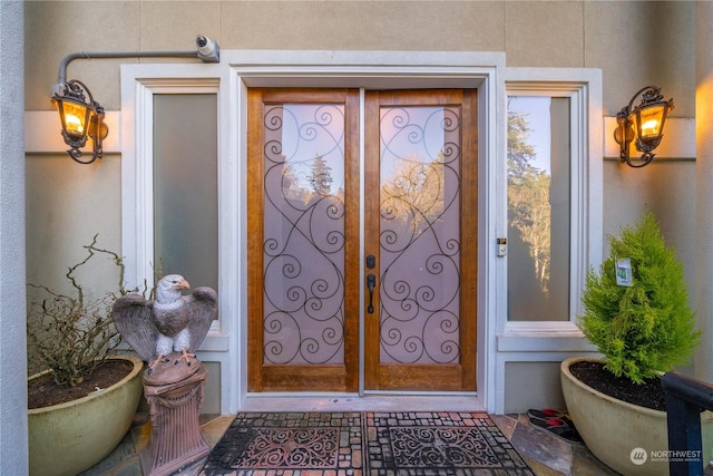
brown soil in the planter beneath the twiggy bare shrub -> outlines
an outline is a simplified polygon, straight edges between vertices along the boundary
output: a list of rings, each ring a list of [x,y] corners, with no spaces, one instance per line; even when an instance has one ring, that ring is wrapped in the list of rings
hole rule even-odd
[[[47,373],[28,382],[28,409],[49,407],[85,397],[97,387],[105,389],[121,380],[131,372],[134,365],[124,360],[107,360],[85,380],[75,387],[55,383]]]

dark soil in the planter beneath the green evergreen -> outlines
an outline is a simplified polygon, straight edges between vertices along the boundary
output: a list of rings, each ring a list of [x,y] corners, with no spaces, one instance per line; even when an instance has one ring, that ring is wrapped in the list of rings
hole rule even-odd
[[[569,366],[569,372],[602,394],[629,404],[654,410],[666,410],[666,391],[660,378],[636,385],[624,377],[616,377],[602,362],[580,361]]]

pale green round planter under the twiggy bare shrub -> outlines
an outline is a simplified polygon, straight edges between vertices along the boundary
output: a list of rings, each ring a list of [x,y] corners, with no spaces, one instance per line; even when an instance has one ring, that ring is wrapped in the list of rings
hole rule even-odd
[[[31,476],[76,475],[99,463],[121,441],[143,394],[144,363],[102,391],[51,407],[28,410]],[[36,378],[32,376],[30,378]]]

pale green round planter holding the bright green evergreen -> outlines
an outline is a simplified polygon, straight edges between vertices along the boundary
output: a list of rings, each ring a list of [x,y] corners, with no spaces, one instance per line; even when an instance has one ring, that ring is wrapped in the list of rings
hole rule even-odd
[[[569,371],[574,357],[560,366],[567,411],[589,450],[623,475],[667,475],[668,430],[666,412],[627,404],[583,383]],[[713,457],[713,414],[702,414],[703,466]]]

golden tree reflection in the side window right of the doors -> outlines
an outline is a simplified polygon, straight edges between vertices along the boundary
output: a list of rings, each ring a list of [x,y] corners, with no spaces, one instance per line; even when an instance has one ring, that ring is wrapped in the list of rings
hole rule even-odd
[[[526,142],[530,130],[525,115],[508,113],[508,222],[529,246],[539,288],[547,293],[551,177],[530,165],[536,156],[535,148]]]

